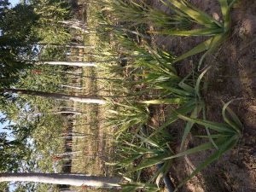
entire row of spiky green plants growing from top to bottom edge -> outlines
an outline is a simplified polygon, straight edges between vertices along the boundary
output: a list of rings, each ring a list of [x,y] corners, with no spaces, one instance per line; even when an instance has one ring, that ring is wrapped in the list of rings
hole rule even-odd
[[[204,79],[211,70],[211,66],[204,66],[204,59],[229,37],[230,10],[236,1],[218,1],[221,20],[212,18],[187,1],[160,2],[170,9],[171,15],[144,1],[109,0],[97,5],[102,12],[94,18],[101,26],[99,39],[102,39],[101,33],[107,32],[107,40],[112,45],[111,49],[107,45],[98,49],[103,47],[104,51],[121,58],[106,73],[115,79],[120,78],[112,83],[116,97],[108,99],[111,104],[107,122],[115,130],[119,156],[115,167],[127,179],[127,183],[122,184],[122,191],[159,191],[161,178],[164,178],[168,191],[177,191],[190,178],[234,148],[241,138],[241,121],[229,108],[233,101],[223,103],[222,112],[219,112],[223,116],[221,123],[207,120],[207,103],[204,101],[207,94]],[[182,55],[173,55],[152,42],[155,35],[207,39]],[[201,57],[198,60],[194,55]],[[190,61],[194,66],[189,73],[178,73],[178,63],[191,56],[195,59]],[[152,122],[154,113],[163,105],[167,108],[166,117],[157,125]],[[177,138],[172,136],[172,126],[176,126],[180,119],[185,122],[183,137],[180,149],[174,152]],[[201,144],[187,148],[187,137],[195,125],[204,130],[199,131]],[[189,177],[178,184],[168,179],[173,159],[206,150],[212,154]]]

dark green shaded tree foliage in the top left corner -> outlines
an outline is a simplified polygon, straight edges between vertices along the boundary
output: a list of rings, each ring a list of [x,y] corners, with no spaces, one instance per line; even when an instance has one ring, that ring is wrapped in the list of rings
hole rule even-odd
[[[1,7],[1,5],[0,5]],[[22,25],[20,25],[22,23]],[[18,4],[0,12],[0,84],[5,86],[17,80],[16,74],[27,66],[20,61],[33,56],[32,46],[39,38],[33,27],[38,25],[38,15],[31,5]]]

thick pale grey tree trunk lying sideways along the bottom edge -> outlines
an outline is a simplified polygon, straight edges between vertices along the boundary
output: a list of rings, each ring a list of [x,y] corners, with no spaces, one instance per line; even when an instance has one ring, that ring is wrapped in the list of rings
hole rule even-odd
[[[0,182],[35,182],[90,186],[97,188],[119,188],[120,177],[97,177],[62,173],[0,173]]]

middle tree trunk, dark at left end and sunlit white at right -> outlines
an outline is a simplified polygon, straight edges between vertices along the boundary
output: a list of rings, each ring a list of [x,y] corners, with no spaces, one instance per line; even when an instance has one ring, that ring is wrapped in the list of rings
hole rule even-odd
[[[84,102],[84,103],[94,103],[94,104],[106,104],[106,101],[103,99],[84,97],[84,96],[68,96],[61,93],[47,93],[37,90],[16,90],[16,89],[0,89],[0,92],[9,92],[17,94],[26,94],[29,96],[43,96],[47,98],[53,98],[57,100],[73,101],[73,102]]]

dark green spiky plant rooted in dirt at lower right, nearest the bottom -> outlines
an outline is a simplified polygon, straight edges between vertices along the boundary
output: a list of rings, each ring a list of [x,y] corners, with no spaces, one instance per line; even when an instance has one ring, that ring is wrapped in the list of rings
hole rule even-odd
[[[230,101],[232,102],[232,101]],[[190,178],[194,177],[198,172],[201,172],[206,166],[210,165],[213,161],[218,160],[223,154],[230,151],[232,148],[236,146],[236,143],[241,138],[241,129],[242,124],[241,121],[236,116],[230,108],[230,102],[224,104],[222,109],[222,115],[224,119],[224,123],[216,123],[203,119],[195,119],[189,118],[183,114],[178,114],[178,118],[186,120],[188,122],[192,122],[193,124],[203,125],[207,127],[207,129],[214,131],[214,134],[210,134],[207,136],[199,136],[202,138],[208,138],[213,140],[215,145],[212,142],[203,143],[195,148],[190,148],[186,151],[183,151],[179,154],[172,155],[170,157],[165,158],[164,160],[172,160],[177,157],[182,157],[184,155],[200,153],[202,151],[208,149],[216,149],[204,162],[201,163],[200,166],[197,166],[195,171],[192,172],[189,177],[185,178],[182,183],[177,186],[177,189],[183,186],[184,183],[189,181]],[[177,191],[177,189],[175,191]]]

